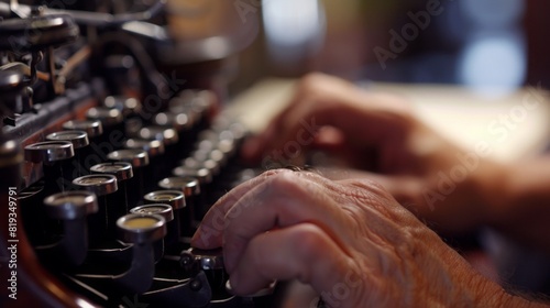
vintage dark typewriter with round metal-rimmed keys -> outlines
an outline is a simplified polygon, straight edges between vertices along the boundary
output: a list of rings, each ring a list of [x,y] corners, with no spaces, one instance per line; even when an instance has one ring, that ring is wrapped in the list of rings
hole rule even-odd
[[[1,307],[278,307],[278,285],[234,296],[221,250],[189,245],[257,175],[223,112],[257,21],[215,37],[188,20],[222,2],[0,2]]]

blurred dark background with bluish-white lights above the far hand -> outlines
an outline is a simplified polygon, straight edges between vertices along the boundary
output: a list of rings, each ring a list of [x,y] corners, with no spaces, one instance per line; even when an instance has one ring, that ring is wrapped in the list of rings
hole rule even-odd
[[[498,96],[548,86],[543,0],[235,0],[261,31],[233,90],[311,70],[350,79],[458,84]],[[239,3],[240,6],[237,6]]]

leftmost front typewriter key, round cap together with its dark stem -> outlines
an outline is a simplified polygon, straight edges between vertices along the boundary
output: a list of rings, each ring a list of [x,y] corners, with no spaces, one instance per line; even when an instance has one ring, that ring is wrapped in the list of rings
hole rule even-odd
[[[46,212],[64,226],[63,239],[52,245],[36,248],[41,260],[55,266],[78,266],[88,251],[86,217],[98,211],[96,195],[88,191],[67,191],[44,199]]]

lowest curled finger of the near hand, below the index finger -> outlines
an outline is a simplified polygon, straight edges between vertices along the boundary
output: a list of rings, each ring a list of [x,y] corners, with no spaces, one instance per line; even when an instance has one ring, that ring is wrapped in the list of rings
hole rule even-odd
[[[237,294],[250,295],[273,280],[298,279],[321,295],[348,293],[339,307],[354,307],[352,294],[366,285],[362,267],[321,228],[301,223],[252,239],[230,282]]]

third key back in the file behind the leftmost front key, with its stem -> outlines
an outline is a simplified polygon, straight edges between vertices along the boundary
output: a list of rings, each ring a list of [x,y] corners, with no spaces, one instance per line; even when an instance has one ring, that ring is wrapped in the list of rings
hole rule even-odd
[[[110,174],[117,177],[119,189],[109,196],[108,202],[118,206],[109,207],[109,217],[118,218],[128,213],[130,209],[128,205],[128,180],[133,177],[132,165],[125,162],[102,163],[91,166],[90,172],[92,174]]]

